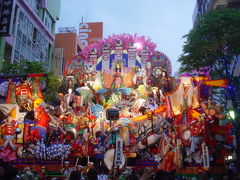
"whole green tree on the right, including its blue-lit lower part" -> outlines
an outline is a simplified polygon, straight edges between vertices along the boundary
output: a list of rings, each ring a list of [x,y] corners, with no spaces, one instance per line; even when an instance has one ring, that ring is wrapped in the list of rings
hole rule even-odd
[[[184,38],[183,54],[178,60],[180,71],[207,66],[211,68],[213,78],[229,79],[225,99],[232,100],[234,108],[239,109],[240,77],[234,74],[240,55],[240,11],[209,11]]]

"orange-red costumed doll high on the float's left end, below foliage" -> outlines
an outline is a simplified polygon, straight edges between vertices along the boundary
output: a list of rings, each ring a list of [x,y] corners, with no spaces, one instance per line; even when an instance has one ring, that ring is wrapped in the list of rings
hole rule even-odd
[[[28,79],[25,79],[23,83],[16,86],[16,101],[23,111],[31,111],[33,109],[32,88]]]

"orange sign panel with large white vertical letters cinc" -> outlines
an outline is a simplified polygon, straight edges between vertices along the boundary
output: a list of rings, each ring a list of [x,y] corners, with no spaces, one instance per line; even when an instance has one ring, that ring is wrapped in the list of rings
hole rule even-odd
[[[103,22],[80,23],[79,38],[84,47],[103,38]]]

